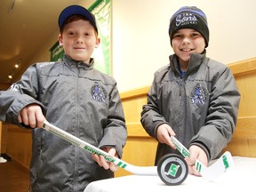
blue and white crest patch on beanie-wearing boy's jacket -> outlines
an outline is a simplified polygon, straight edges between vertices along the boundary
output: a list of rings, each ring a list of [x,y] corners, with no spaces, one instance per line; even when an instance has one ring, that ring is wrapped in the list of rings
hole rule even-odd
[[[196,104],[197,106],[202,106],[206,100],[206,91],[201,84],[196,84],[193,91],[190,94],[191,103]]]

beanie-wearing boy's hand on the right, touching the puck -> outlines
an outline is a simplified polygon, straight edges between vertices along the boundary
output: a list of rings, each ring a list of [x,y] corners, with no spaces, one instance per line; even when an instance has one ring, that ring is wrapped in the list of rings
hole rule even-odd
[[[196,159],[198,159],[202,164],[204,164],[206,167],[208,166],[208,158],[205,154],[204,150],[202,148],[199,148],[198,146],[192,145],[189,148],[190,157],[186,157],[185,160],[188,164],[188,172],[190,174],[194,174],[196,176],[201,176],[199,172],[196,170]]]

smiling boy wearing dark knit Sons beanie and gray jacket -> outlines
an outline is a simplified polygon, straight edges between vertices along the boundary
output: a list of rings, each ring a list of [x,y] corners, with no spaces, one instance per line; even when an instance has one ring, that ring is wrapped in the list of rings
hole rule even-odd
[[[174,54],[156,71],[140,120],[158,140],[156,164],[180,153],[170,139],[175,136],[189,149],[189,172],[199,175],[196,158],[208,165],[231,140],[240,94],[227,66],[206,57],[209,28],[202,10],[181,7],[172,15],[169,36]]]

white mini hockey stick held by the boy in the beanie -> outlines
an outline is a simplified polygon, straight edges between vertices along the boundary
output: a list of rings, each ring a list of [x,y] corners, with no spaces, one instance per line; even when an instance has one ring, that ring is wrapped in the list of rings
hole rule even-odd
[[[175,137],[171,137],[172,143],[174,146],[180,151],[182,156],[187,157],[190,156],[188,148],[185,148],[179,140]],[[231,154],[226,151],[220,158],[211,166],[206,167],[200,161],[196,159],[196,170],[200,172],[202,177],[205,180],[215,180],[217,177],[226,172],[229,168],[234,166],[234,161]]]

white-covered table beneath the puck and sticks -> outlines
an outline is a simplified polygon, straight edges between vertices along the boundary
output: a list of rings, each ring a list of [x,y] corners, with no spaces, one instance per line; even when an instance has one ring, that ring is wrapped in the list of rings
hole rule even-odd
[[[244,192],[247,189],[255,192],[256,158],[233,156],[233,159],[235,166],[212,182],[188,174],[187,179],[180,185],[166,186],[158,176],[129,175],[93,181],[84,192]]]

